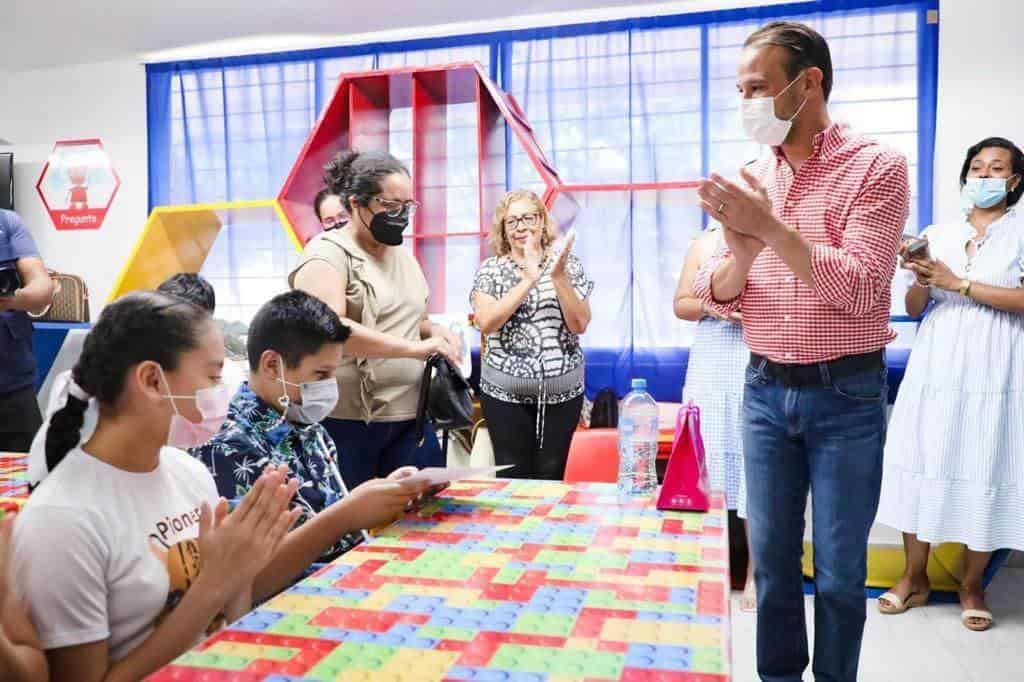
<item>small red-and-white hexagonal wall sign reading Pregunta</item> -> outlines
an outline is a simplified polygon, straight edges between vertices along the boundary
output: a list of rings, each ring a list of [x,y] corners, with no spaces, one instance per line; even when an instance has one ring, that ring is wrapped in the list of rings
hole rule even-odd
[[[61,140],[36,182],[36,191],[57,229],[98,229],[121,178],[99,139]]]

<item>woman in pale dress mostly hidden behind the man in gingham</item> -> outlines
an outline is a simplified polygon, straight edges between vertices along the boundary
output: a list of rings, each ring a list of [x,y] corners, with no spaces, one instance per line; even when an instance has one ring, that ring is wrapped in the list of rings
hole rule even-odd
[[[725,494],[727,509],[746,518],[746,485],[743,477],[741,412],[743,373],[751,351],[743,342],[742,316],[718,315],[693,296],[693,280],[700,266],[724,247],[722,230],[709,229],[697,237],[686,253],[686,262],[676,290],[675,312],[680,319],[697,323],[686,367],[683,402],[700,408],[700,435],[708,458],[708,476],[713,489]],[[746,567],[746,585],[740,601],[743,610],[757,608],[754,593],[754,562]]]

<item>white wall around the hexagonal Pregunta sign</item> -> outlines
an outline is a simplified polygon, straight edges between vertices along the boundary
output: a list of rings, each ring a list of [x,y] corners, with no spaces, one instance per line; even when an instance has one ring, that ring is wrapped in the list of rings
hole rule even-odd
[[[0,75],[0,138],[13,143],[14,204],[55,270],[85,278],[93,319],[146,218],[145,69],[110,61]],[[99,229],[57,231],[36,181],[58,139],[99,137],[121,188]]]

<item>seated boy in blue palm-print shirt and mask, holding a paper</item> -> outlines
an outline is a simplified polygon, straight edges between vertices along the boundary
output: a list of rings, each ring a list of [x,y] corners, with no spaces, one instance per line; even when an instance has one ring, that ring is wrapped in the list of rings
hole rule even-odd
[[[374,479],[350,493],[338,469],[338,452],[319,421],[338,400],[335,372],[348,327],[319,299],[292,291],[270,299],[249,326],[249,382],[231,399],[219,432],[191,450],[213,474],[217,492],[242,498],[270,464],[286,464],[299,480],[293,505],[301,508],[271,567],[273,584],[257,585],[258,596],[273,594],[313,561],[327,561],[362,538],[362,528],[384,525],[424,493],[425,485]]]

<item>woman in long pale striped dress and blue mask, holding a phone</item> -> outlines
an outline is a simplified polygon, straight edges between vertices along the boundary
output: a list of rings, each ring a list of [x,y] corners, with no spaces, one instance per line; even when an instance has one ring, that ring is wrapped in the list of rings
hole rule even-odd
[[[879,600],[928,600],[931,543],[964,543],[963,623],[987,630],[982,578],[993,550],[1024,550],[1024,154],[993,137],[968,150],[966,219],[925,231],[906,309],[921,314],[886,442],[878,520],[903,531],[906,569]],[[904,250],[903,255],[906,256]]]

